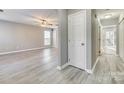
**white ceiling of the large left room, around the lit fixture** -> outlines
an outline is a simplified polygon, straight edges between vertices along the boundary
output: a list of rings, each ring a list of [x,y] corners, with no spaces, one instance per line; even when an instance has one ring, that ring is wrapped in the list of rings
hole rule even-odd
[[[40,26],[41,20],[50,24],[58,24],[56,9],[4,9],[0,12],[0,20]]]

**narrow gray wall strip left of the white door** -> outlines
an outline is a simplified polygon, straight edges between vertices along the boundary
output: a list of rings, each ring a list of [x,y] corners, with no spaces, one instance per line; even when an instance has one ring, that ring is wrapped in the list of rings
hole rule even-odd
[[[66,9],[58,10],[58,45],[59,45],[59,66],[68,62],[68,15]]]

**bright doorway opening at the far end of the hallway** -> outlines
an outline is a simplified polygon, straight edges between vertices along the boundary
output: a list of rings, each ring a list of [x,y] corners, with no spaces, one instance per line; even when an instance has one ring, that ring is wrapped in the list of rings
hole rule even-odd
[[[117,33],[116,26],[103,27],[101,30],[101,54],[116,55]]]

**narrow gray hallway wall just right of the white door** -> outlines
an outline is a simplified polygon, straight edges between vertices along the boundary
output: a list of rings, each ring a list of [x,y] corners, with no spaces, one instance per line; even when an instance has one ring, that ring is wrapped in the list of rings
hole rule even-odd
[[[94,66],[100,50],[99,44],[99,23],[97,18],[95,18],[96,10],[92,10],[92,67]]]

